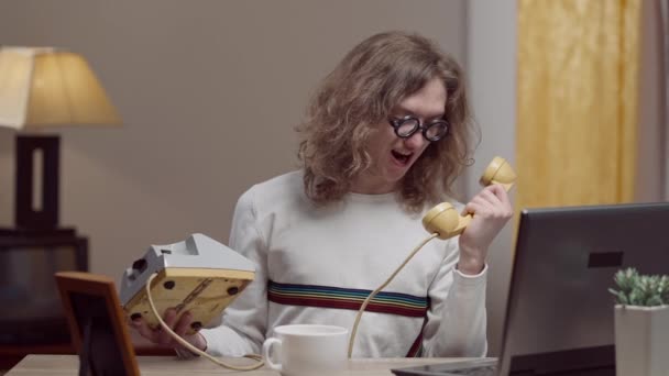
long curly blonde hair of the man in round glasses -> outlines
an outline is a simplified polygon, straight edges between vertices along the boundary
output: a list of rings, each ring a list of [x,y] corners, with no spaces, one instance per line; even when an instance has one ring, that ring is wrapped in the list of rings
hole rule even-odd
[[[323,79],[307,107],[298,158],[307,197],[317,204],[339,201],[354,177],[371,166],[370,135],[402,100],[439,78],[447,90],[448,135],[430,144],[401,181],[397,197],[419,211],[445,195],[471,161],[475,124],[458,63],[417,34],[386,32],[357,45]],[[390,126],[390,125],[388,125]]]

